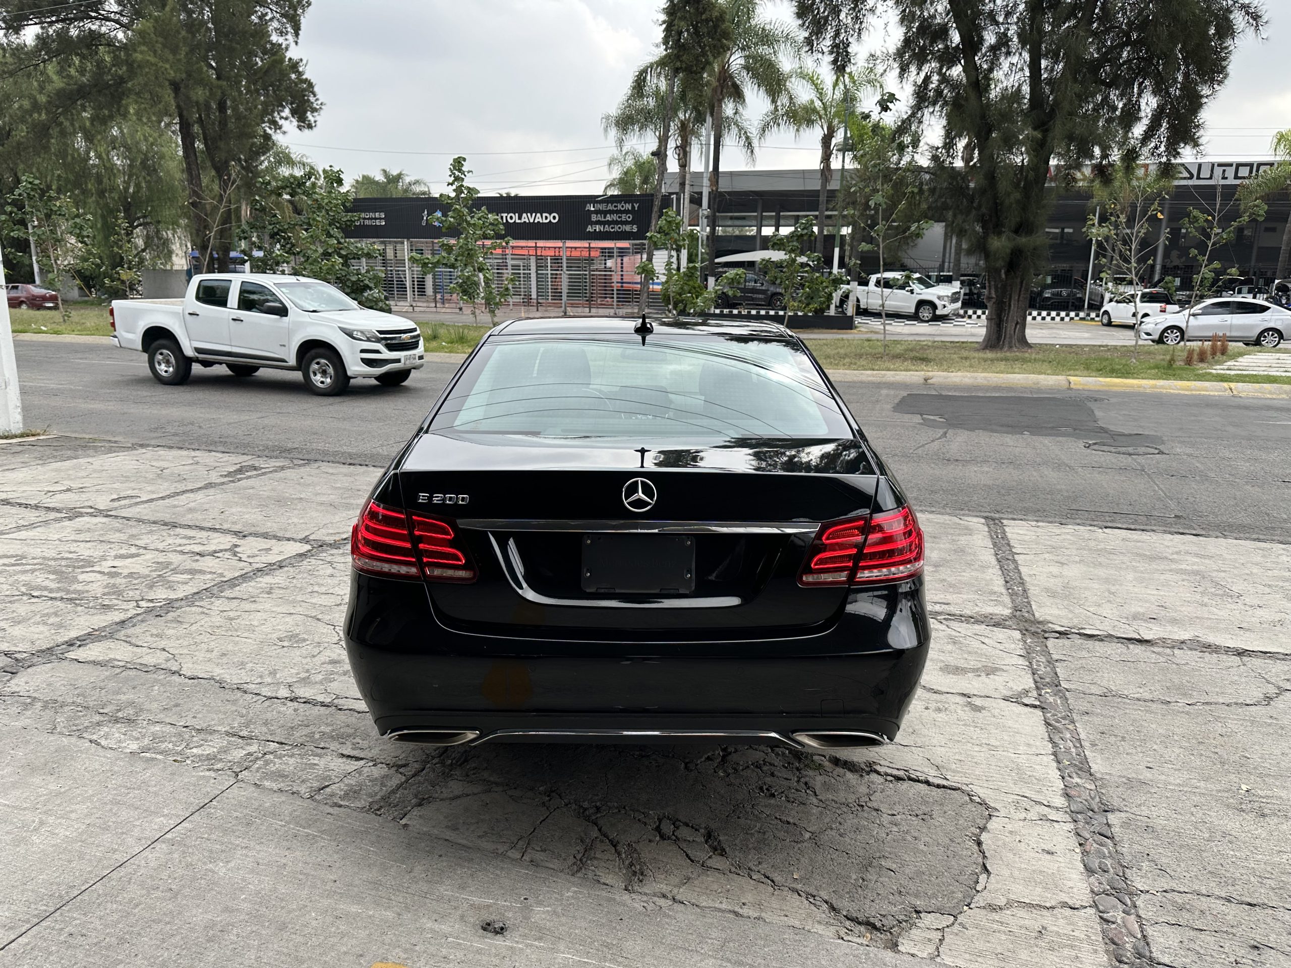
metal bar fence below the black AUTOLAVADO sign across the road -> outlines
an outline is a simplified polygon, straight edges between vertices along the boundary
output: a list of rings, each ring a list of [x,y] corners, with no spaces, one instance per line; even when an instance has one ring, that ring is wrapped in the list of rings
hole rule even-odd
[[[391,306],[458,307],[457,296],[449,292],[454,279],[452,270],[427,275],[408,258],[409,253],[435,253],[438,241],[390,239],[373,244],[381,257],[363,259],[360,265],[381,268]],[[492,253],[489,263],[500,281],[511,276],[511,298],[506,303],[511,311],[630,315],[640,297],[640,276],[635,268],[644,254],[643,241],[518,241]],[[656,263],[662,277],[662,254],[656,256]],[[660,307],[655,292],[651,306]]]

